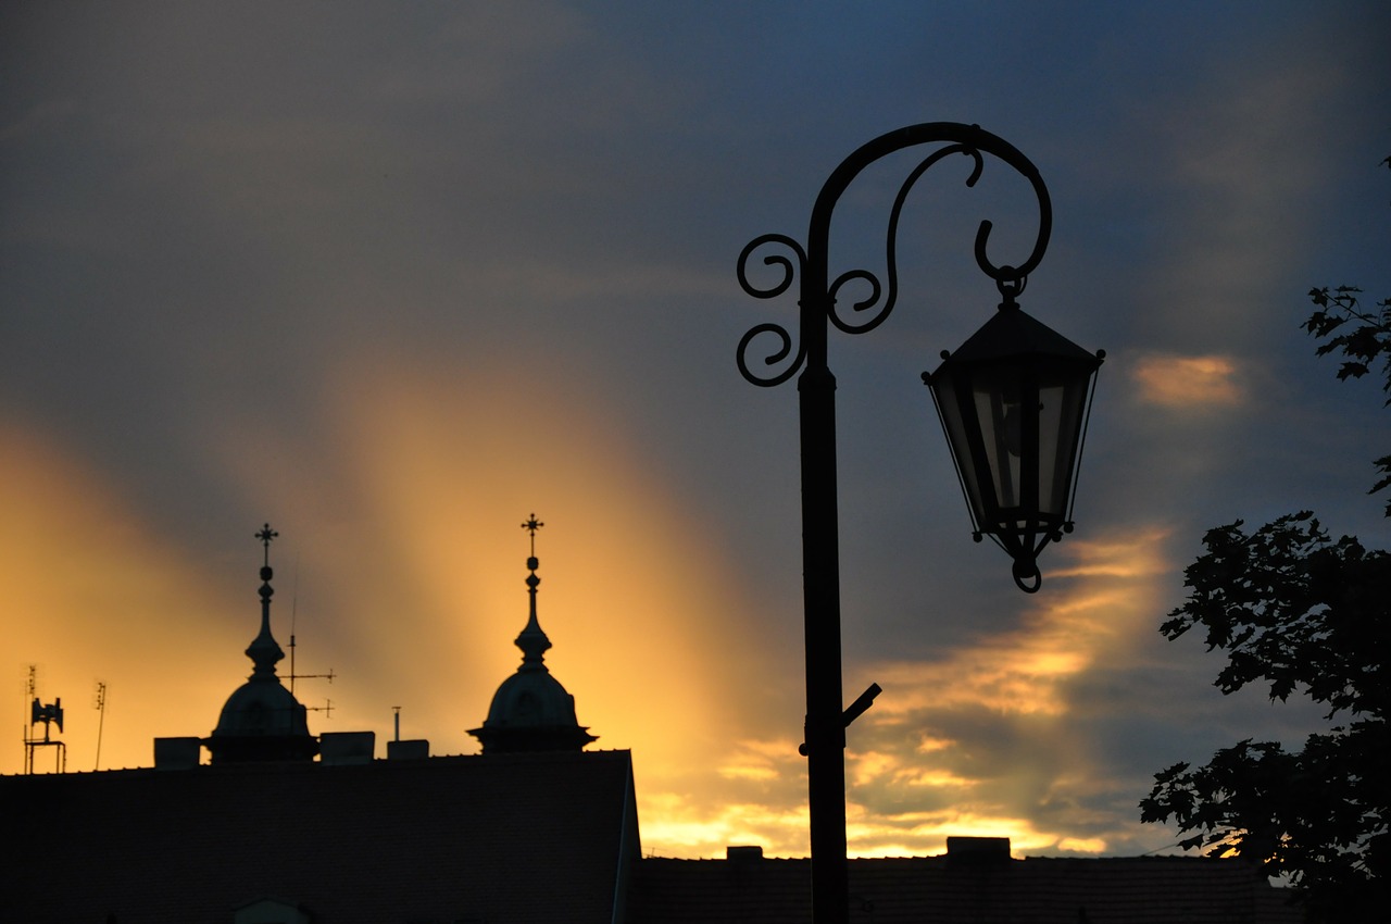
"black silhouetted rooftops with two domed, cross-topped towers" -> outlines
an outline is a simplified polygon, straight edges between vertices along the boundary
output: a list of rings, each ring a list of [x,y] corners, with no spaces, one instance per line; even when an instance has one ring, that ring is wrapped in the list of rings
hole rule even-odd
[[[213,732],[154,742],[154,765],[0,776],[19,856],[0,921],[28,924],[787,924],[810,920],[810,860],[732,846],[643,857],[627,750],[586,750],[574,697],[544,662],[536,530],[522,665],[502,680],[481,754],[310,733],[271,632],[270,544],[253,671]],[[207,750],[209,763],[202,761]],[[850,920],[878,924],[1292,924],[1287,891],[1235,860],[1011,859],[1004,838],[850,861]]]

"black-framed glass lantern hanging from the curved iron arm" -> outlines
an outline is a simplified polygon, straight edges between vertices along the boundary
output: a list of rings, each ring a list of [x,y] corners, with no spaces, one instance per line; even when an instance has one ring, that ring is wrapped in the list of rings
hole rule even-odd
[[[995,317],[936,372],[922,373],[942,419],[975,539],[1014,559],[1014,583],[1042,583],[1038,554],[1072,532],[1071,495],[1103,351],[1089,353],[1006,294]]]

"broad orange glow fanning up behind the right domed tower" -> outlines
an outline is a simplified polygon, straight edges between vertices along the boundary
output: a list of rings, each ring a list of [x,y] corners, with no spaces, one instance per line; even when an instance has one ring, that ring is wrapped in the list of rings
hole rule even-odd
[[[537,534],[538,614],[555,646],[547,664],[597,747],[633,747],[644,771],[714,770],[712,743],[725,735],[714,721],[737,714],[726,672],[754,675],[737,642],[737,594],[721,578],[719,544],[583,381],[559,392],[502,370],[431,376],[416,363],[344,395],[357,515],[415,587],[419,612],[408,618],[419,637],[396,657],[428,658],[427,676],[452,687],[433,736],[474,750],[463,729],[516,669],[512,639],[527,612],[520,523],[534,509],[547,523]]]

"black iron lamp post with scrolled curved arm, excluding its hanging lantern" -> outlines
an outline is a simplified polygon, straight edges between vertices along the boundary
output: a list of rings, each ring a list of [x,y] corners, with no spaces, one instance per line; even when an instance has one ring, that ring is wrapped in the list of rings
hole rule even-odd
[[[943,145],[932,150],[903,182],[889,217],[886,262],[887,285],[868,270],[850,270],[830,280],[828,250],[830,217],[840,195],[871,163],[918,145]],[[982,221],[975,239],[975,257],[982,271],[996,281],[1010,306],[1014,295],[1024,288],[1029,271],[1038,266],[1047,246],[1052,228],[1052,206],[1047,189],[1038,170],[1024,154],[1003,139],[975,125],[956,122],[926,122],[882,135],[850,154],[826,180],[817,198],[807,232],[807,246],[780,234],[766,234],[751,241],[739,257],[739,281],[755,298],[775,298],[786,292],[794,280],[800,282],[800,331],[794,341],[778,324],[753,327],[739,344],[737,362],[743,376],[757,385],[778,385],[801,370],[797,379],[801,429],[801,516],[803,516],[803,597],[805,618],[807,661],[807,725],[804,753],[807,756],[808,807],[811,814],[811,900],[815,924],[843,924],[849,920],[849,864],[846,859],[846,725],[864,711],[876,687],[861,697],[857,710],[847,714],[843,706],[840,671],[840,552],[836,509],[836,379],[826,362],[828,323],[844,333],[865,333],[887,317],[897,299],[896,235],[903,202],[932,164],[950,154],[974,159],[974,170],[967,185],[975,185],[983,157],[990,154],[1022,174],[1034,186],[1039,203],[1039,235],[1032,253],[1017,266],[996,266],[986,256],[990,223]],[[769,252],[764,263],[782,269],[782,278],[772,285],[757,285],[746,270],[755,252]],[[854,282],[868,287],[868,295],[853,305],[855,317],[837,313],[836,295]],[[882,303],[881,303],[882,298]],[[1004,305],[1002,305],[1002,309]],[[1017,306],[1015,306],[1017,308]],[[1022,312],[1021,312],[1022,313]],[[780,366],[768,374],[758,374],[748,365],[750,344],[759,335],[773,335],[780,346],[762,360],[765,366]],[[1099,365],[1100,360],[1096,360]],[[1095,367],[1093,367],[1095,372]],[[1020,398],[1013,399],[1015,405]],[[999,405],[999,402],[997,402]],[[1035,415],[1036,416],[1036,415]],[[1038,427],[1032,431],[1036,434]],[[978,440],[979,443],[979,440]],[[1035,454],[1036,455],[1036,454]],[[958,461],[958,469],[961,462]],[[1035,466],[1036,468],[1036,466]],[[965,481],[965,477],[963,477]],[[1011,516],[1018,516],[1011,512]],[[1038,518],[1031,520],[1038,532]],[[1068,523],[1070,526],[1070,523]],[[976,525],[981,533],[993,533],[989,526]],[[1042,544],[1056,539],[1056,529],[1047,527]],[[992,534],[992,537],[995,537]],[[1034,533],[1029,534],[1034,537]],[[1042,548],[1038,544],[1038,548]],[[1029,543],[1034,550],[1034,543]],[[1034,550],[1036,551],[1036,550]],[[1011,552],[1013,554],[1013,552]],[[1015,573],[1032,568],[1032,555],[1022,564],[1015,555]],[[1036,575],[1036,569],[1034,569]],[[1018,576],[1017,576],[1018,580]],[[1024,583],[1020,583],[1025,587]],[[1031,587],[1025,587],[1031,590]]]

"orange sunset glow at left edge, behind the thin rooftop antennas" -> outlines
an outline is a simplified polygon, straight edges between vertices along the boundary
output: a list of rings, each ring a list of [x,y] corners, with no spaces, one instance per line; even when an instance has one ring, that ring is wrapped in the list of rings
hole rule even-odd
[[[0,669],[13,692],[0,707],[0,772],[24,770],[31,664],[38,697],[63,700],[64,729],[51,733],[67,746],[68,771],[97,768],[99,680],[107,685],[102,770],[149,767],[156,736],[209,733],[249,674],[242,648],[255,626],[224,628],[238,604],[211,590],[199,562],[153,534],[89,468],[3,424],[0,507]],[[51,771],[57,756],[39,749],[35,770]]]

